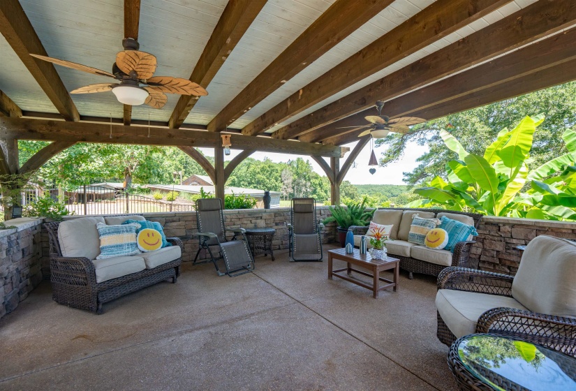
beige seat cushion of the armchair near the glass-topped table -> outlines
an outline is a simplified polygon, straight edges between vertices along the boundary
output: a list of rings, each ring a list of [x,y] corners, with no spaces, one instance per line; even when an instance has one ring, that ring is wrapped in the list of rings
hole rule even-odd
[[[476,332],[480,315],[497,307],[526,309],[512,297],[451,289],[436,293],[436,309],[457,338]]]

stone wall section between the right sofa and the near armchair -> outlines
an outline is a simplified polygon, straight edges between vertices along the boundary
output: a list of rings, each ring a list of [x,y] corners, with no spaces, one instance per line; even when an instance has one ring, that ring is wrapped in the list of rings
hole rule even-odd
[[[516,247],[528,244],[538,235],[576,239],[576,223],[485,216],[480,221],[478,243],[472,248],[471,258],[480,270],[514,275],[522,256]]]

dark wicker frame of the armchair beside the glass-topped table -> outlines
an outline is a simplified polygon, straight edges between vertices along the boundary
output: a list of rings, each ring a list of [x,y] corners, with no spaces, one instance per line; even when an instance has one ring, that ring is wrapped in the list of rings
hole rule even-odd
[[[461,290],[512,297],[513,281],[512,276],[505,274],[448,267],[438,276],[438,290]],[[457,337],[448,328],[439,311],[437,316],[436,335],[443,344],[450,346]],[[497,307],[480,315],[475,332],[517,337],[576,357],[576,318]]]

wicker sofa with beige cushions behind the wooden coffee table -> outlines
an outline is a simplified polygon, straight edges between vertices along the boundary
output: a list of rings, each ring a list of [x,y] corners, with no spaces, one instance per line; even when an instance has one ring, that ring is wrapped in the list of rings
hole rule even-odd
[[[408,278],[413,278],[413,273],[429,274],[438,276],[442,270],[449,266],[468,266],[470,250],[475,243],[468,239],[459,242],[455,246],[454,253],[446,250],[433,250],[425,246],[418,246],[408,242],[408,232],[412,223],[412,216],[418,214],[423,219],[440,219],[447,216],[450,219],[461,221],[478,228],[481,214],[457,212],[445,209],[423,208],[383,208],[376,209],[372,221],[383,225],[392,225],[390,239],[385,242],[387,252],[394,258],[399,258],[400,268],[406,270]],[[368,227],[353,226],[354,244],[360,245],[360,237],[367,233]]]

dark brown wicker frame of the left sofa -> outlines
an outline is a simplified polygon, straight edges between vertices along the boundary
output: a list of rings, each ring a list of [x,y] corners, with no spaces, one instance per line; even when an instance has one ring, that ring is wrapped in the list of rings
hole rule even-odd
[[[102,313],[102,305],[118,297],[128,295],[155,283],[172,279],[176,283],[180,275],[182,257],[172,260],[154,269],[128,274],[101,283],[96,282],[96,271],[91,260],[84,257],[64,257],[58,241],[60,221],[44,223],[50,239],[50,281],[52,299],[68,307]],[[184,252],[182,240],[167,237],[173,246],[180,246]]]

